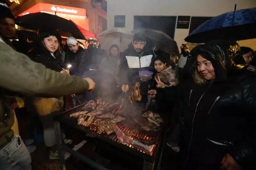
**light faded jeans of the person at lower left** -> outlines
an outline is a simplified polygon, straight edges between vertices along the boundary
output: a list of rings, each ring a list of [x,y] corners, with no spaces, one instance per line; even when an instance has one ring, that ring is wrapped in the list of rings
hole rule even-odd
[[[0,150],[0,170],[31,170],[31,157],[20,136],[14,135]]]

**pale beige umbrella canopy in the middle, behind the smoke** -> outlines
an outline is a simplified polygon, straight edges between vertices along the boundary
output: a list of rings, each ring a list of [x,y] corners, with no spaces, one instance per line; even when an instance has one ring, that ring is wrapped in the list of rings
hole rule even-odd
[[[132,38],[133,34],[122,28],[106,30],[98,36],[101,49],[108,50],[112,44],[116,44],[118,45],[120,52],[123,52],[128,48]]]

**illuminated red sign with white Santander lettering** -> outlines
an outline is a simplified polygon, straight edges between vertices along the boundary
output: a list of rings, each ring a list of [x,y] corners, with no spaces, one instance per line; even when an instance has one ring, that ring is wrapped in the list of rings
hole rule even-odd
[[[67,7],[49,3],[37,3],[36,5],[22,12],[18,16],[36,12],[45,12],[49,14],[55,14],[56,12],[57,15],[74,15],[77,17],[86,17],[86,10],[84,8]]]

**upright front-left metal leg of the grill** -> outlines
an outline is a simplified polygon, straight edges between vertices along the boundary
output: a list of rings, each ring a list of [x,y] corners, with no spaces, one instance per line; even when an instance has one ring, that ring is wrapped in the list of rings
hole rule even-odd
[[[54,131],[56,136],[56,144],[57,144],[57,151],[59,155],[60,168],[61,170],[66,170],[64,151],[62,151],[61,149],[62,136],[61,136],[61,126],[59,122],[54,122]]]

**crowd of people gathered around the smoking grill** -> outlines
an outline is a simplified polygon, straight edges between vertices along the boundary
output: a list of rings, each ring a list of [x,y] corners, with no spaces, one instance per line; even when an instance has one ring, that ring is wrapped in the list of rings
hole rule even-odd
[[[41,29],[32,44],[16,37],[15,18],[0,3],[1,97],[0,169],[31,169],[29,152],[14,129],[17,99],[38,115],[50,159],[58,159],[53,116],[68,100],[86,97],[95,89],[102,98],[117,100],[140,83],[145,109],[154,104],[168,114],[178,105],[179,123],[169,134],[167,146],[178,153],[177,169],[247,170],[256,160],[256,53],[234,41],[211,41],[192,49],[182,44],[179,60],[147,46],[135,34],[120,53],[112,44],[99,53],[95,43],[82,48],[74,37]],[[22,48],[21,48],[22,46]],[[96,51],[96,52],[95,52]],[[99,80],[86,78],[91,70]],[[140,71],[151,71],[143,81]],[[98,85],[99,82],[99,85]],[[20,97],[20,98],[17,98]],[[64,143],[72,143],[64,138]]]

